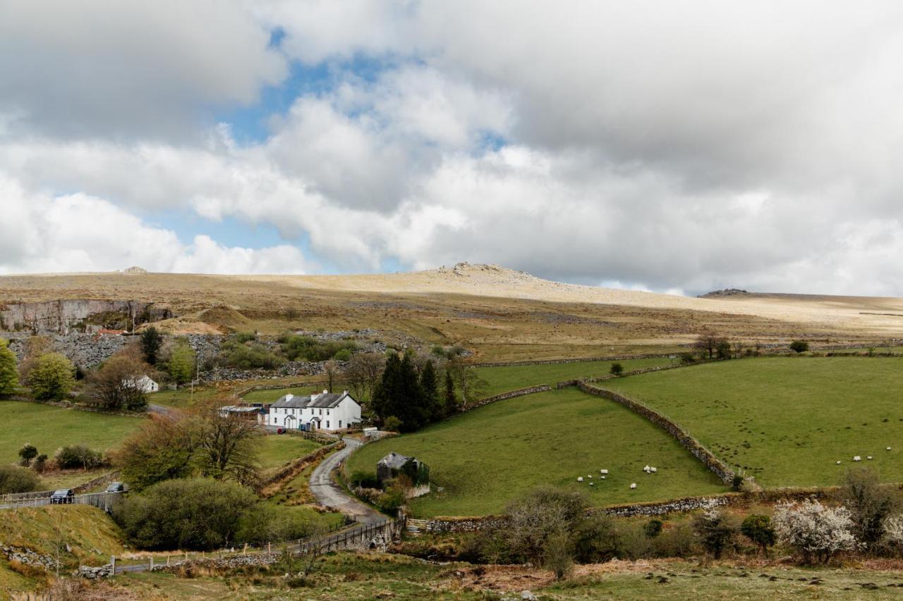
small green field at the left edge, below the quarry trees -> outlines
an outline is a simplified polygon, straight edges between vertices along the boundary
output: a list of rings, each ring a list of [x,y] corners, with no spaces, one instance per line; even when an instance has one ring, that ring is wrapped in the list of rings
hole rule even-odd
[[[53,456],[58,448],[83,444],[98,450],[116,448],[144,420],[42,405],[36,402],[0,402],[0,462],[18,459],[23,444]]]

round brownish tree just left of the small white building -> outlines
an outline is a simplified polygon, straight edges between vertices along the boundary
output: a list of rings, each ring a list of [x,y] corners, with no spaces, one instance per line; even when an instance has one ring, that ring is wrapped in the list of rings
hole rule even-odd
[[[88,402],[108,411],[144,410],[147,395],[140,381],[147,370],[147,365],[127,354],[111,356],[99,369],[88,374]]]

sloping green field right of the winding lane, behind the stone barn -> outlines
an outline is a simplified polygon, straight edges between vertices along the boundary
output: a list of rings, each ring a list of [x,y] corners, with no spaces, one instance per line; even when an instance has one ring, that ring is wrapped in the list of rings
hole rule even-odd
[[[431,468],[442,492],[414,499],[414,514],[479,515],[539,485],[582,490],[601,506],[722,492],[725,487],[675,439],[616,402],[576,389],[495,402],[424,430],[368,444],[348,462],[376,471],[390,451]],[[642,471],[658,467],[656,475]],[[600,480],[600,468],[610,470]],[[576,482],[577,476],[593,475]],[[638,483],[630,490],[631,482]]]

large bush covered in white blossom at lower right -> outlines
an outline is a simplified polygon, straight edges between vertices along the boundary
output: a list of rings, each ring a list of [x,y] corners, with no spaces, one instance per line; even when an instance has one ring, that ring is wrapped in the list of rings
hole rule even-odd
[[[814,499],[780,504],[772,523],[780,541],[800,550],[806,561],[825,562],[838,551],[859,547],[846,507],[825,507]]]

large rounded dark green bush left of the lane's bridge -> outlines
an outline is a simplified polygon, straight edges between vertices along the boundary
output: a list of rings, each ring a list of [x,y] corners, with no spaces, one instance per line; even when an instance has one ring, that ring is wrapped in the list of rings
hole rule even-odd
[[[237,542],[241,520],[256,502],[234,482],[168,480],[129,495],[113,515],[141,549],[213,550]]]

